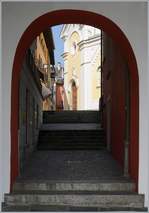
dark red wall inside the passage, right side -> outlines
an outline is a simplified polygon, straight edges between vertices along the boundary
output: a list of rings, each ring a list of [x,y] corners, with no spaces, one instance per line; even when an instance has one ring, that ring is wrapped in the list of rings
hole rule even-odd
[[[107,104],[111,102],[111,151],[114,158],[123,166],[125,133],[125,60],[119,48],[103,33],[103,94],[104,119],[107,127]]]

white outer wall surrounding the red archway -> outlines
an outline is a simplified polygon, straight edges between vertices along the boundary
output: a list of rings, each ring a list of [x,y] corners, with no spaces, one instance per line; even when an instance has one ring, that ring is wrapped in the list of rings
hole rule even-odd
[[[123,30],[135,52],[140,83],[139,192],[149,206],[149,72],[147,72],[147,5],[145,2],[3,2],[2,3],[2,174],[1,193],[10,183],[11,72],[17,43],[27,26],[52,10],[82,9],[105,15]]]

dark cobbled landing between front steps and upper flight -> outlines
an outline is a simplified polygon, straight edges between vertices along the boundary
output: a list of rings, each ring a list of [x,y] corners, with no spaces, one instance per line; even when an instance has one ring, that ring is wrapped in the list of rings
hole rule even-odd
[[[105,180],[123,179],[112,156],[102,151],[35,151],[21,179]]]

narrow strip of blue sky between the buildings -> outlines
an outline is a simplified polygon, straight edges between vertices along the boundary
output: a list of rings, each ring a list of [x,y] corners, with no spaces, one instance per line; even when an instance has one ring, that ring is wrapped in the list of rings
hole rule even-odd
[[[60,32],[61,32],[62,26],[63,25],[57,25],[52,27],[52,33],[53,33],[54,44],[55,44],[55,50],[54,50],[55,64],[57,64],[57,62],[61,62],[62,64],[64,64],[63,58],[61,57],[61,55],[64,52],[64,43],[63,43],[63,40],[60,38]]]

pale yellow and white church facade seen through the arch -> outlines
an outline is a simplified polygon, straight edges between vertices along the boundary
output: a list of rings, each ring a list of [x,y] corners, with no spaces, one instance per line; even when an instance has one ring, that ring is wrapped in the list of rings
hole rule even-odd
[[[82,24],[63,25],[65,109],[95,110],[101,93],[101,31]]]

